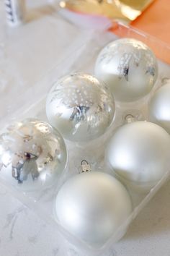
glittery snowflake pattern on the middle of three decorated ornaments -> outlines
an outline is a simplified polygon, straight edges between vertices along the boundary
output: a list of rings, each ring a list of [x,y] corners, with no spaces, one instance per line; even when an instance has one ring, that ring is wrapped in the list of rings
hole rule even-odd
[[[63,111],[72,109],[69,120],[74,123],[73,134],[82,123],[88,125],[88,130],[105,122],[109,124],[111,116],[107,111],[111,99],[107,88],[89,74],[71,74],[58,80],[51,90],[50,103],[54,103],[57,111],[55,117],[61,117]]]

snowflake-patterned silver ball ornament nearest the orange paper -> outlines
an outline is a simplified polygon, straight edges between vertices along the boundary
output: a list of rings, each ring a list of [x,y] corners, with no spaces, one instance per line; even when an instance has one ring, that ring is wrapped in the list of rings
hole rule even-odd
[[[150,93],[158,67],[148,46],[133,38],[122,38],[102,49],[95,74],[108,85],[116,101],[130,102]]]

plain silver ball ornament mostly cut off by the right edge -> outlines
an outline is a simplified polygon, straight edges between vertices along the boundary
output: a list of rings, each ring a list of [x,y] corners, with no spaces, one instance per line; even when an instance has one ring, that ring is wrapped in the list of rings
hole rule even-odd
[[[170,133],[170,82],[154,93],[148,108],[149,119]]]

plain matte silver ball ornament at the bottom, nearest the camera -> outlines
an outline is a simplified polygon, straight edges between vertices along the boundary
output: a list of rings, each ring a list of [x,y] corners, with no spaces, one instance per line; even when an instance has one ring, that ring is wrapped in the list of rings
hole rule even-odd
[[[68,179],[55,201],[56,218],[61,225],[89,244],[104,244],[131,210],[125,187],[113,176],[98,171]]]

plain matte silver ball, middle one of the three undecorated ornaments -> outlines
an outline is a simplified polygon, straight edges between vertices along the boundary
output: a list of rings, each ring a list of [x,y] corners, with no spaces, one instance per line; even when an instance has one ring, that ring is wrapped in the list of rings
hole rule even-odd
[[[135,121],[117,129],[107,146],[105,161],[137,188],[151,189],[170,169],[170,136],[157,124]]]

